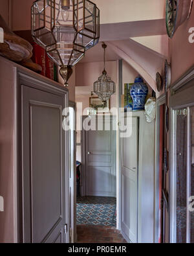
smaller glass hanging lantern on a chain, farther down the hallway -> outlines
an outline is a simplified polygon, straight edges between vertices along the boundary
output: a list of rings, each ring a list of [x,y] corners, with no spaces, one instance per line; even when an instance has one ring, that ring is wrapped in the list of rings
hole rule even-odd
[[[98,97],[102,100],[104,106],[106,106],[107,100],[109,100],[111,95],[115,93],[115,83],[111,80],[109,76],[107,76],[107,72],[105,71],[105,50],[107,48],[107,45],[105,45],[105,43],[102,43],[102,48],[104,50],[104,69],[102,75],[98,78],[96,82],[94,82],[94,93],[98,95]]]

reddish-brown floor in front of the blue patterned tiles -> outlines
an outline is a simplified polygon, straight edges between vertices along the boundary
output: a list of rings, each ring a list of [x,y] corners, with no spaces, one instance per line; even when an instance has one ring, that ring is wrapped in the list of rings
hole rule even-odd
[[[77,225],[78,244],[127,243],[115,227]]]

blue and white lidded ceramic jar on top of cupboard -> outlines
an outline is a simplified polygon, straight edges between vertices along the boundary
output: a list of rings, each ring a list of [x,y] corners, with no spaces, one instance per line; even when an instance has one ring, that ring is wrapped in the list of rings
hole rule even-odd
[[[141,76],[135,78],[135,84],[131,87],[130,94],[133,99],[133,111],[145,110],[148,87],[144,84]]]

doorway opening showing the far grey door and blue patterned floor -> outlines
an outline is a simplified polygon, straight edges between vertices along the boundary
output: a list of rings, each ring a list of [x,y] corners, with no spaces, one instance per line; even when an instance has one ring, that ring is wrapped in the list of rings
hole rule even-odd
[[[116,118],[81,119],[83,125],[95,123],[96,129],[83,128],[80,138],[77,133],[76,224],[116,228]]]

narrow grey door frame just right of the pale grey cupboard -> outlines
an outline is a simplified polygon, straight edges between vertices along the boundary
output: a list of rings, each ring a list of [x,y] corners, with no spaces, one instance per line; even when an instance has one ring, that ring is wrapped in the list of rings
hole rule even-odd
[[[160,182],[160,106],[166,104],[166,94],[164,93],[156,99],[156,124],[155,124],[155,243],[159,239],[159,182]]]

